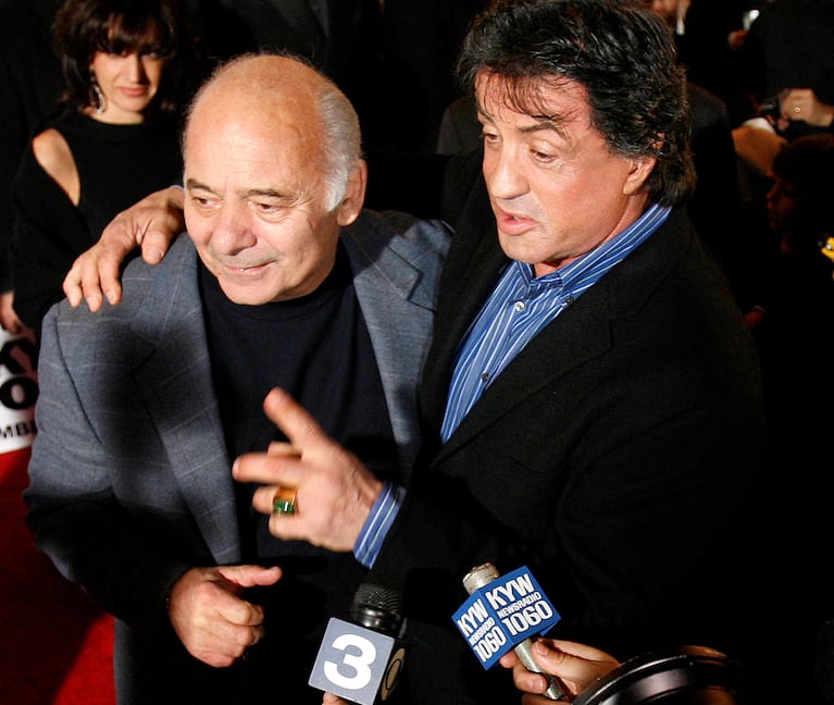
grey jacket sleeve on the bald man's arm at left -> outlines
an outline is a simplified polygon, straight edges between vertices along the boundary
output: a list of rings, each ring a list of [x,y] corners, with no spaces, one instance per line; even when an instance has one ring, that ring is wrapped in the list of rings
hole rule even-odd
[[[115,483],[135,482],[137,472],[151,472],[151,459],[159,453],[150,450],[148,437],[146,466],[125,471],[129,453],[114,454],[105,441],[111,426],[120,423],[119,413],[108,413],[91,399],[122,394],[122,406],[135,407],[140,401],[132,398],[132,387],[124,382],[109,389],[108,373],[92,355],[74,368],[66,362],[82,357],[79,348],[105,347],[104,336],[119,338],[107,323],[64,306],[53,307],[43,320],[35,411],[38,434],[23,495],[26,524],[37,548],[66,579],[116,618],[151,628],[164,623],[167,592],[191,564],[173,548],[176,522],[171,515],[140,521],[136,507],[125,506],[117,496]],[[96,327],[105,330],[96,335]],[[111,376],[128,378],[124,366],[110,367]],[[91,385],[91,376],[102,380],[101,385]],[[130,431],[122,433],[129,436]]]

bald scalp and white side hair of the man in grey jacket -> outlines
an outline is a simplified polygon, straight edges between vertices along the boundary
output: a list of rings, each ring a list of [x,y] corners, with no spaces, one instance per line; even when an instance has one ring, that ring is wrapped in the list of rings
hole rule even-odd
[[[196,121],[252,137],[298,140],[321,171],[331,208],[362,157],[359,119],[348,98],[303,61],[246,54],[217,67],[191,101],[184,153]]]

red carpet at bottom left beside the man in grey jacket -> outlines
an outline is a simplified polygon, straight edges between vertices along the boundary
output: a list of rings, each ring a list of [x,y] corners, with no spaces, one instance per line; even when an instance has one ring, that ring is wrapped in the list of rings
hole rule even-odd
[[[112,619],[35,549],[29,448],[0,454],[0,703],[113,705]]]

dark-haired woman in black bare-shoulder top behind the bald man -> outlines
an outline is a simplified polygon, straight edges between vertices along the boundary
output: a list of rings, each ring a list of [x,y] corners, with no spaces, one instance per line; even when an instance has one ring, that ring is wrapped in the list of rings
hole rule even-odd
[[[104,225],[181,177],[181,108],[197,78],[176,0],[66,0],[52,37],[65,89],[12,185],[14,309],[36,336]]]

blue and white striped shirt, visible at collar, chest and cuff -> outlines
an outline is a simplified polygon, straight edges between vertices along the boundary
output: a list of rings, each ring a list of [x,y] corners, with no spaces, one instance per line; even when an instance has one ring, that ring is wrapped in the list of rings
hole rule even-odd
[[[458,350],[440,430],[444,443],[524,346],[649,237],[670,210],[650,207],[622,233],[550,274],[534,277],[530,264],[507,265]],[[386,485],[371,509],[353,548],[364,566],[373,566],[403,496],[401,488]]]

